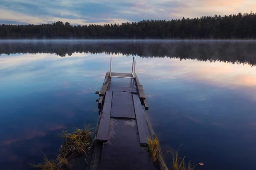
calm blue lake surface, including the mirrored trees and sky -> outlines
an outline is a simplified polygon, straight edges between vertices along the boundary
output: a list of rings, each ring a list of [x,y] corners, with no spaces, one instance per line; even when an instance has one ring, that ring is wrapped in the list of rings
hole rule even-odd
[[[109,70],[137,57],[164,150],[195,170],[256,169],[256,42],[0,42],[0,166],[26,170],[54,158],[62,130],[95,125]],[[92,54],[91,54],[92,53]],[[9,54],[9,55],[6,55]],[[165,156],[167,164],[172,155]],[[199,167],[200,166],[200,167]]]

